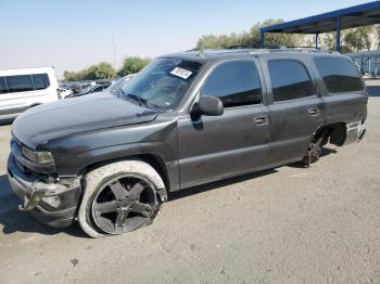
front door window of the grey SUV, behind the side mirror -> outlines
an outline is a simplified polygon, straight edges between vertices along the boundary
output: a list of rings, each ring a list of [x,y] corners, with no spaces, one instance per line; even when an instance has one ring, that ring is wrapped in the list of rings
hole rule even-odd
[[[262,102],[262,87],[253,61],[227,62],[217,66],[201,89],[202,95],[217,96],[225,107]]]

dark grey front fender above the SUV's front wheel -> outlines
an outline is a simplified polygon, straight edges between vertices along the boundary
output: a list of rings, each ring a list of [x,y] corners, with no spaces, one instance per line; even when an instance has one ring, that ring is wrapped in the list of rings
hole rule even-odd
[[[90,165],[150,154],[165,165],[177,160],[177,121],[156,120],[128,127],[89,131],[50,141],[58,175],[78,176]]]

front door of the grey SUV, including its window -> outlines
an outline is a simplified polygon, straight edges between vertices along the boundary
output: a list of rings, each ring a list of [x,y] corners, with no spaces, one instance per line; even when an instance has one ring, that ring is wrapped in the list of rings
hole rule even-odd
[[[263,168],[268,160],[268,107],[255,60],[224,62],[212,68],[199,95],[223,101],[221,116],[178,120],[181,188]]]

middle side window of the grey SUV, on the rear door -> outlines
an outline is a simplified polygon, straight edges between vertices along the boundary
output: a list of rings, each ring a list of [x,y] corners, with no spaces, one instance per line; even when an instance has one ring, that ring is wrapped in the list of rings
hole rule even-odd
[[[268,62],[274,101],[287,101],[313,95],[313,82],[306,67],[297,61]]]

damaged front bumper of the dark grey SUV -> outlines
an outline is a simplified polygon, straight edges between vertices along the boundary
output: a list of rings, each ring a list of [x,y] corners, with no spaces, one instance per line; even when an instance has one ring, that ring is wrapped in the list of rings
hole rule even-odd
[[[79,178],[60,182],[41,180],[24,173],[10,154],[8,179],[24,203],[21,210],[29,211],[40,222],[52,227],[66,227],[74,221],[81,194]]]

